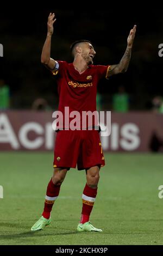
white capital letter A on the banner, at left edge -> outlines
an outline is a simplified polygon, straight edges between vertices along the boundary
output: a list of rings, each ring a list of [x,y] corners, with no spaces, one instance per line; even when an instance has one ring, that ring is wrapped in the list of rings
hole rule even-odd
[[[15,132],[6,114],[0,114],[0,143],[10,143],[13,149],[20,148]]]

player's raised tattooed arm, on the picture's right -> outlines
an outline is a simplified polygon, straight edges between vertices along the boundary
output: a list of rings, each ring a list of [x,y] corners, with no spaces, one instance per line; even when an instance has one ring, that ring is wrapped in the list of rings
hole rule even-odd
[[[133,29],[130,30],[128,39],[127,39],[127,48],[126,52],[124,53],[120,63],[117,65],[111,65],[109,66],[109,69],[106,74],[106,78],[109,78],[112,75],[116,75],[119,73],[124,73],[128,69],[128,65],[130,62],[130,57],[131,57],[131,49],[133,47],[133,42],[135,38],[135,32],[136,32],[136,25],[134,26]]]

